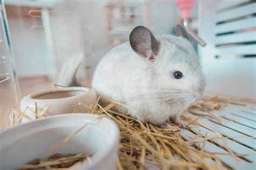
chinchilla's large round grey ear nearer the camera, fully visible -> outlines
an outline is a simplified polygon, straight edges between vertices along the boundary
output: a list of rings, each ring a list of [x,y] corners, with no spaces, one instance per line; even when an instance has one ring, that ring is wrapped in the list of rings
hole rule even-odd
[[[144,26],[137,26],[132,30],[130,44],[134,52],[147,60],[153,60],[160,51],[160,42]]]

